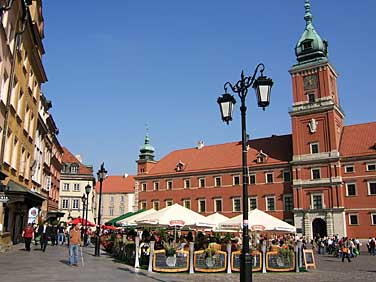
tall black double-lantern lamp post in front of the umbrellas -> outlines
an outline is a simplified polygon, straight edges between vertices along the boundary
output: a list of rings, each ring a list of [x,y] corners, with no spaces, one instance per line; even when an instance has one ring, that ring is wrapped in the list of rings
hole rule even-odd
[[[227,86],[234,93],[237,93],[241,100],[241,118],[242,118],[242,168],[243,168],[243,246],[240,256],[240,281],[252,281],[252,257],[249,252],[249,234],[248,234],[248,164],[247,164],[247,131],[246,131],[246,111],[245,98],[247,97],[248,88],[253,87],[256,90],[257,103],[259,107],[265,110],[270,102],[270,91],[273,81],[263,75],[265,66],[258,64],[252,76],[244,76],[241,73],[241,79],[232,85],[230,82],[224,84],[225,94],[219,97],[217,102],[221,109],[222,120],[227,124],[232,120],[234,96],[227,93]],[[260,70],[261,76],[255,79],[257,72]]]

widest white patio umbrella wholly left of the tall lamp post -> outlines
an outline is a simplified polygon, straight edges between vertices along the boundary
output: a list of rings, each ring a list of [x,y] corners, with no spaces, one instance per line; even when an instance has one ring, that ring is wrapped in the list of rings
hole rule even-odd
[[[187,209],[179,204],[174,204],[155,213],[145,215],[136,220],[137,226],[187,226],[212,228],[215,226],[212,220],[205,216]]]

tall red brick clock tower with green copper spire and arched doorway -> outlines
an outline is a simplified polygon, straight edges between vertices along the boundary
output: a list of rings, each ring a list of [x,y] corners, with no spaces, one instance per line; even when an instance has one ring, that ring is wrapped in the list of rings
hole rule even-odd
[[[328,43],[313,27],[305,1],[305,30],[295,47],[292,77],[294,220],[308,237],[345,235],[339,144],[344,113],[337,73],[328,60]]]

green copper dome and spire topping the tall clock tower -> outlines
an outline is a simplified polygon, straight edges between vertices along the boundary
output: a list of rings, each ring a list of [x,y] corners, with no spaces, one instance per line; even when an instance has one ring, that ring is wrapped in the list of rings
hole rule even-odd
[[[299,63],[326,58],[328,43],[322,40],[312,24],[311,4],[305,0],[306,28],[295,46],[295,54]]]

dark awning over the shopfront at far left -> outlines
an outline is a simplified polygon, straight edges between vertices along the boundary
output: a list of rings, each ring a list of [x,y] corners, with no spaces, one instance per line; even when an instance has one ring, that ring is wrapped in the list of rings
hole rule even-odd
[[[9,197],[9,202],[26,202],[28,206],[40,206],[43,201],[47,200],[41,194],[30,190],[12,180],[8,182],[5,188],[5,194]]]

